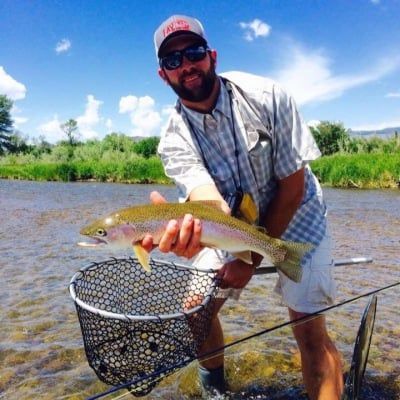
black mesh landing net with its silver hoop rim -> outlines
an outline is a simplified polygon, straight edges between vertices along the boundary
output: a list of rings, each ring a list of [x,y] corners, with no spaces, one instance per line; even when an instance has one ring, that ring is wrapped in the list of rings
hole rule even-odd
[[[214,273],[150,265],[148,273],[133,258],[93,263],[70,284],[89,365],[109,385],[132,382],[135,396],[197,357],[217,292]]]

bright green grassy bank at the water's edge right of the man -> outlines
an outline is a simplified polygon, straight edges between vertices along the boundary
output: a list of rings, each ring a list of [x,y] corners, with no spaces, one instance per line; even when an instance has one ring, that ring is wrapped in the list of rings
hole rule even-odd
[[[314,161],[312,169],[326,186],[396,188],[400,181],[400,152],[334,154]]]

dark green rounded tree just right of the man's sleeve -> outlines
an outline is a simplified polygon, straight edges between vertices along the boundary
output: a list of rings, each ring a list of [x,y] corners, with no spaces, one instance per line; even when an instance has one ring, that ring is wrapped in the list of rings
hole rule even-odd
[[[345,149],[350,139],[347,130],[340,122],[323,121],[316,128],[311,127],[311,133],[324,156]]]

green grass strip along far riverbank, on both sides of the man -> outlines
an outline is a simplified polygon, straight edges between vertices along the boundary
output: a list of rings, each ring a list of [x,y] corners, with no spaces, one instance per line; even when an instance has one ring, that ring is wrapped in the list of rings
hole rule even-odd
[[[400,152],[334,154],[312,162],[311,166],[325,186],[362,189],[399,187]],[[0,178],[63,182],[171,183],[157,157],[130,161],[0,164]]]

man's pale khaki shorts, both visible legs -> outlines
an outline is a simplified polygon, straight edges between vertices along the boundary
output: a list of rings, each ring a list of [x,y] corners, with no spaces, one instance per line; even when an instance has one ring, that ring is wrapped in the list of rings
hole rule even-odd
[[[193,260],[198,269],[220,269],[235,257],[220,250],[203,249]],[[333,259],[331,254],[331,237],[327,233],[315,249],[310,260],[304,265],[299,283],[293,282],[278,271],[279,278],[275,292],[281,295],[282,303],[292,310],[313,313],[332,305],[336,297],[336,285],[332,277]],[[211,278],[210,278],[211,279]],[[210,280],[211,282],[211,280]],[[195,282],[193,282],[195,286]],[[219,289],[217,297],[238,300],[243,289]]]

